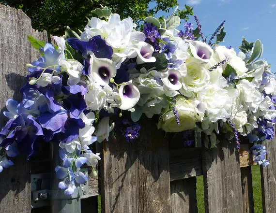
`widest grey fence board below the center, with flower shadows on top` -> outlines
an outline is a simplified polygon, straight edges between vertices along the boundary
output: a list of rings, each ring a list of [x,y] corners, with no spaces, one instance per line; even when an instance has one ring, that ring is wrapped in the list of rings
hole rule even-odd
[[[117,141],[105,142],[101,155],[102,212],[169,213],[169,152],[162,131],[152,119],[142,119],[138,139],[126,142],[116,122]]]

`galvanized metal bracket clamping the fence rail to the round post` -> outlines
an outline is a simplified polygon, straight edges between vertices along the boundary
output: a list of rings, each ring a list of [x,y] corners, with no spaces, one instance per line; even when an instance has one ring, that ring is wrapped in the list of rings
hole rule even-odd
[[[81,168],[85,175],[88,176],[88,169]],[[50,173],[32,174],[31,175],[31,207],[37,208],[49,206],[50,199],[74,199],[86,198],[88,194],[88,181],[81,184],[72,196],[65,196],[62,190],[50,189]]]

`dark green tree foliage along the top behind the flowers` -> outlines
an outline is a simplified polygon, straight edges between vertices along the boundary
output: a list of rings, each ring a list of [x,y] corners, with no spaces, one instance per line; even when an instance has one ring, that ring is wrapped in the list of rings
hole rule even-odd
[[[147,16],[154,16],[159,11],[169,12],[178,5],[177,0],[0,0],[1,4],[23,10],[32,21],[32,27],[47,30],[48,35],[63,35],[65,27],[74,31],[83,30],[92,10],[100,4],[112,8],[122,18],[132,17],[139,25]],[[187,20],[193,14],[193,8],[185,5],[178,15]],[[160,17],[163,18],[163,17]]]

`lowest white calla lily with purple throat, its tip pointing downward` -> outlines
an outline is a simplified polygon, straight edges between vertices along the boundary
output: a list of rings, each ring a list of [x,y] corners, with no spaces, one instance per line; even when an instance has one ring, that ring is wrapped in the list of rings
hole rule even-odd
[[[119,105],[121,110],[131,109],[137,104],[140,98],[140,92],[135,85],[132,85],[132,81],[128,81],[125,85],[120,86],[119,95],[122,101]]]

